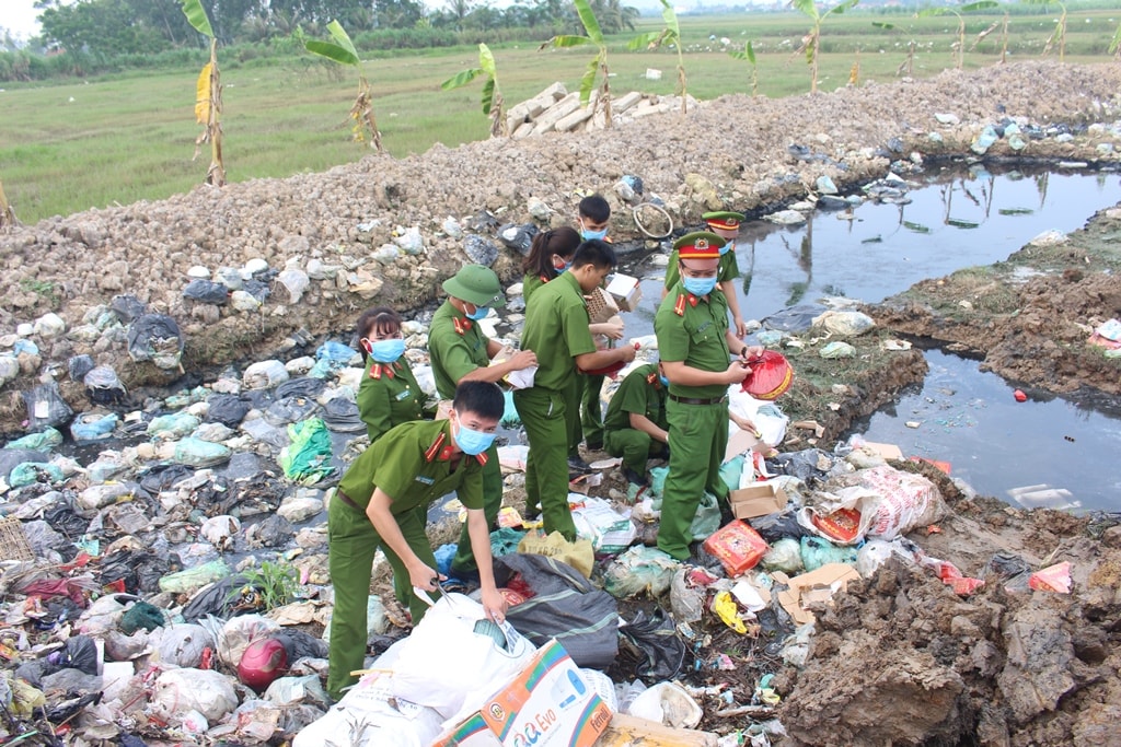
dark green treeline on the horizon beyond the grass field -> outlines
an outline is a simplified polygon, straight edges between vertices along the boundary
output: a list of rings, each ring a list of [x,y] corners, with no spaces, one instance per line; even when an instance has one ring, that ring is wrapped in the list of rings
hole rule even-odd
[[[518,0],[497,9],[448,0],[429,11],[418,0],[202,0],[219,41],[233,59],[288,55],[299,36],[324,37],[337,20],[370,56],[583,34],[575,7],[563,0]],[[633,30],[636,8],[591,0],[605,34]],[[0,81],[39,81],[196,60],[204,39],[187,24],[180,0],[39,0],[41,36],[25,49],[0,52]],[[226,55],[230,58],[230,54]]]

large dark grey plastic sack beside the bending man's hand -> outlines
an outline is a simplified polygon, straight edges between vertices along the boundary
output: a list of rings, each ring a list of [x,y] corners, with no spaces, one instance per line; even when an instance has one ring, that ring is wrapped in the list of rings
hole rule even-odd
[[[525,553],[494,559],[494,581],[520,576],[534,597],[510,607],[506,618],[535,645],[556,638],[577,666],[606,669],[619,653],[615,598],[568,563]]]

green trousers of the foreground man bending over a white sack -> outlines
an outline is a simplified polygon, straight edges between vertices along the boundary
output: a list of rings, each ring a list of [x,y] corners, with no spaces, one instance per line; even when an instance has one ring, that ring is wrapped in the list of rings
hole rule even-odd
[[[432,568],[436,559],[425,534],[419,512],[396,515],[401,534],[413,552]],[[331,644],[328,652],[327,693],[339,700],[343,688],[358,682],[351,672],[365,665],[367,604],[370,598],[370,578],[373,554],[381,547],[381,536],[361,511],[346,505],[337,496],[327,510],[327,564],[335,605],[331,615]],[[408,579],[408,571],[397,553],[382,548],[393,569],[393,579]],[[409,591],[409,611],[418,623],[428,606]]]

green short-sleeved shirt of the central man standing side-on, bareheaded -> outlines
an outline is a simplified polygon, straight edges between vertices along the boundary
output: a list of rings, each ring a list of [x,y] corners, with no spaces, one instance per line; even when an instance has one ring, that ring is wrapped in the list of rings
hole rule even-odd
[[[574,357],[595,352],[584,304],[575,276],[565,272],[534,292],[526,305],[521,349],[537,354],[534,389],[569,391],[576,377]]]

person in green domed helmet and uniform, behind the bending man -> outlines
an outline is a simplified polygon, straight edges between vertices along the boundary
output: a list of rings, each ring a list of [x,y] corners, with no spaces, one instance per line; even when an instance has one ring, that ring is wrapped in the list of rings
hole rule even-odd
[[[462,382],[498,383],[512,371],[537,365],[532,351],[518,351],[508,360],[490,365],[502,346],[483,334],[478,323],[491,308],[506,305],[502,284],[493,270],[481,264],[467,264],[445,280],[443,288],[448,298],[436,310],[428,328],[428,354],[441,399],[452,399],[456,385]],[[488,530],[493,529],[501,507],[502,468],[498,449],[492,445],[487,450],[487,466],[483,467],[483,515]],[[451,576],[473,580],[475,570],[467,525],[464,524],[455,558],[452,559]]]

